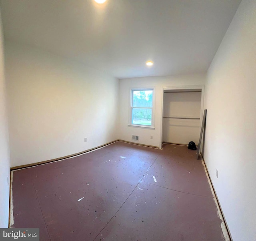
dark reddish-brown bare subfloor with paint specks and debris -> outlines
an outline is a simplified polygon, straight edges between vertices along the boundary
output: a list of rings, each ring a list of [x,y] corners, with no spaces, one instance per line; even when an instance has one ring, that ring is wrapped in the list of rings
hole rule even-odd
[[[12,227],[40,228],[42,241],[224,240],[204,166],[184,146],[118,141],[14,171],[12,193]]]

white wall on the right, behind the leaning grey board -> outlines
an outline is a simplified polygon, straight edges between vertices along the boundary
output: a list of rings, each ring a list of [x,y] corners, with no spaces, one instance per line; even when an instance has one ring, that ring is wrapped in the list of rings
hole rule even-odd
[[[256,1],[242,0],[206,84],[203,155],[234,241],[256,240],[255,26]]]

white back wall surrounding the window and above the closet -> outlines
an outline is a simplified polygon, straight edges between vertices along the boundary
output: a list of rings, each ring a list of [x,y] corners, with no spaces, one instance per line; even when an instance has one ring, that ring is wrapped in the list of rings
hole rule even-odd
[[[119,92],[119,135],[118,138],[140,143],[144,145],[152,145],[159,147],[161,138],[161,111],[164,87],[175,86],[195,86],[203,85],[206,76],[204,74],[188,75],[188,76],[164,76],[164,77],[144,77],[120,80]],[[129,123],[130,110],[130,91],[132,88],[156,88],[155,95],[155,129],[146,129],[143,127],[131,127]],[[139,141],[132,141],[132,135],[139,135]],[[153,135],[153,139],[150,139]]]

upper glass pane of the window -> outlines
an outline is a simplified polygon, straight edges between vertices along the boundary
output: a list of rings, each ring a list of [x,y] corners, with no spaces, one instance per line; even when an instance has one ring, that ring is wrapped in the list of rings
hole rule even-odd
[[[153,90],[133,90],[132,107],[152,107]]]

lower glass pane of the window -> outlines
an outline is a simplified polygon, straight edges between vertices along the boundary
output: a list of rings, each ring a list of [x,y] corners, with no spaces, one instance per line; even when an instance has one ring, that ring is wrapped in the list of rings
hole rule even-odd
[[[152,109],[132,108],[132,124],[151,125]]]

